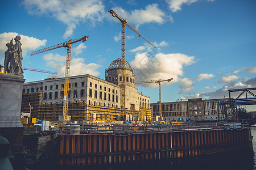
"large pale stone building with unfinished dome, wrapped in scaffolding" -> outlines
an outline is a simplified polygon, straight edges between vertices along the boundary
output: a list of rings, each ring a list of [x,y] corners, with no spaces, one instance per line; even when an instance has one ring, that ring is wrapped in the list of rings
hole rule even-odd
[[[95,76],[71,76],[68,92],[68,116],[72,121],[118,121],[121,116],[122,59],[115,59],[106,70],[105,80]],[[125,61],[126,120],[151,121],[150,98],[139,94],[135,73]],[[24,83],[22,112],[40,120],[59,120],[63,115],[65,78],[50,78]]]

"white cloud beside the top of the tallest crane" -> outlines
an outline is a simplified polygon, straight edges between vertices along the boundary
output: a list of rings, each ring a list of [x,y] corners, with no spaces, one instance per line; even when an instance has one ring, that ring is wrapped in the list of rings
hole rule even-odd
[[[145,24],[145,23],[158,23],[162,24],[165,22],[165,14],[156,3],[147,5],[145,9],[140,10],[134,10],[132,12],[127,12],[123,10],[122,7],[114,7],[113,8],[115,12],[122,18],[125,18],[128,20],[128,22],[131,24]],[[115,19],[117,20],[117,19]]]

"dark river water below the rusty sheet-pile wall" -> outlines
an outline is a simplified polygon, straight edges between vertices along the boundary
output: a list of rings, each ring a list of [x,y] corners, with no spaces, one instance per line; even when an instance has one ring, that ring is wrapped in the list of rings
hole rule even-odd
[[[170,160],[151,161],[147,163],[110,165],[104,169],[111,170],[255,170],[256,169],[256,127],[251,128],[253,151],[248,153],[225,153],[204,155],[197,159],[170,162]],[[102,168],[97,168],[102,169]]]

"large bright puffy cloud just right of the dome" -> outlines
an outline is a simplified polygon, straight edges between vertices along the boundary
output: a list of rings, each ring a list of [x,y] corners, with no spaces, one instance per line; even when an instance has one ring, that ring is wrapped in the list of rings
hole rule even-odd
[[[141,53],[135,56],[130,62],[135,71],[136,81],[158,80],[173,78],[172,82],[178,82],[179,76],[183,75],[183,67],[195,62],[195,57],[189,57],[185,54],[163,54],[158,53],[152,56],[150,53]],[[170,82],[165,84],[171,84]],[[153,86],[154,83],[142,84],[145,87]]]

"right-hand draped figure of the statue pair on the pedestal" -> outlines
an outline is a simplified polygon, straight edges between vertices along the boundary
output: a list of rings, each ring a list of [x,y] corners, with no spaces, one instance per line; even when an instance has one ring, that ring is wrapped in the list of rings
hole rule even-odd
[[[10,62],[10,73],[13,74],[22,74],[22,49],[21,49],[21,43],[20,43],[21,37],[18,35],[15,37],[15,42],[13,49],[11,50],[11,62]]]

